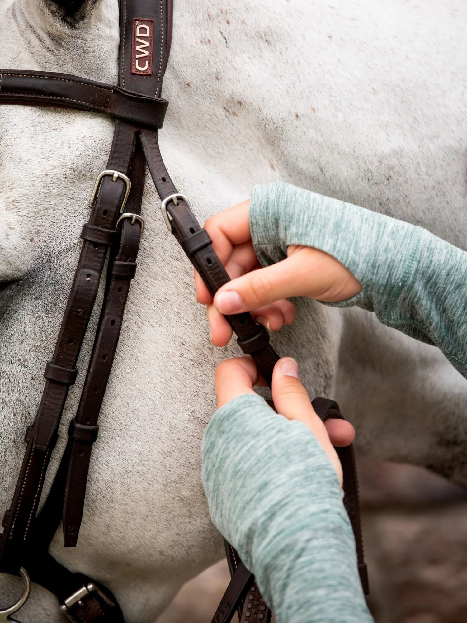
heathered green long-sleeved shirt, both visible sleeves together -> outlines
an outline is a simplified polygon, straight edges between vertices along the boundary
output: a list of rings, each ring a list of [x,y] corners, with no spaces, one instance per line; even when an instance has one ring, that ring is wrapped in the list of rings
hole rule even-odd
[[[467,254],[430,232],[290,184],[256,186],[250,227],[263,265],[290,244],[322,249],[362,283],[359,305],[438,346],[467,378]],[[336,472],[311,431],[259,396],[219,409],[202,447],[214,524],[279,623],[371,621]]]

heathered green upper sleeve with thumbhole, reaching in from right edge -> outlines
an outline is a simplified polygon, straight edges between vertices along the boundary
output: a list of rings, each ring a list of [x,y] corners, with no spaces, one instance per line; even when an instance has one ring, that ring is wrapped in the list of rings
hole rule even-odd
[[[412,338],[438,346],[467,378],[467,253],[422,227],[286,183],[255,186],[253,245],[266,266],[290,244],[333,255],[361,282],[358,305]]]

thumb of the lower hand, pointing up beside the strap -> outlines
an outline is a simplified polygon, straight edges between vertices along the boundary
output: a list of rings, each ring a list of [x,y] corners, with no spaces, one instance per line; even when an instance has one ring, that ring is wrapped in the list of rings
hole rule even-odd
[[[342,487],[342,465],[334,450],[328,432],[311,406],[308,392],[298,376],[295,359],[283,357],[276,363],[272,379],[272,395],[276,411],[289,420],[306,424],[328,455]]]

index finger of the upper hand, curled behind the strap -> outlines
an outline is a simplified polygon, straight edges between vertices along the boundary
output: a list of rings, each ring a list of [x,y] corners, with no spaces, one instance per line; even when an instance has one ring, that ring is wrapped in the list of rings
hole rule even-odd
[[[204,229],[210,235],[212,247],[225,266],[234,246],[251,239],[250,199],[209,217]],[[212,296],[197,270],[194,271],[194,278],[197,302],[208,305],[212,302]]]

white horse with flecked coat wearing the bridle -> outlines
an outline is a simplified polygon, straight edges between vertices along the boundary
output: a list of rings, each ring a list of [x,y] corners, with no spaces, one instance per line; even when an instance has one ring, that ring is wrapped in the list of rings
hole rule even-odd
[[[0,0],[0,67],[116,83],[117,2],[87,0],[75,20],[63,18],[51,0]],[[465,248],[466,21],[463,0],[176,2],[160,135],[177,187],[204,222],[253,184],[286,179]],[[100,114],[0,107],[1,512],[112,134]],[[215,366],[238,354],[235,345],[210,345],[191,266],[158,206],[148,179],[138,273],[78,546],[65,550],[60,533],[52,544],[68,568],[107,584],[129,621],[153,621],[182,583],[222,556],[200,482],[200,441],[215,411]],[[308,300],[273,343],[298,359],[311,395],[341,403],[361,452],[467,483],[467,383],[436,348],[369,313]],[[91,345],[88,337],[49,485]],[[0,604],[12,601],[16,582],[1,576]],[[34,586],[21,620],[62,620],[55,597]]]

